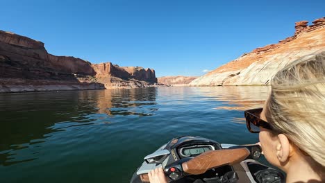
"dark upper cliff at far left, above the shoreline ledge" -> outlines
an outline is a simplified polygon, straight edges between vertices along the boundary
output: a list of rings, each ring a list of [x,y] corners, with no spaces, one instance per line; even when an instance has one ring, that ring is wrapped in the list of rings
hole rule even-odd
[[[0,78],[67,79],[61,76],[69,78],[72,73],[95,75],[90,62],[51,55],[41,42],[3,31],[0,33]]]

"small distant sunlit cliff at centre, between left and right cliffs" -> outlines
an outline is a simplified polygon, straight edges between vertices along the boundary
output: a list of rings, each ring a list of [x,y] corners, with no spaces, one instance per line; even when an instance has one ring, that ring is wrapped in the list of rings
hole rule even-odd
[[[158,83],[172,86],[188,86],[196,76],[165,76],[158,78]]]

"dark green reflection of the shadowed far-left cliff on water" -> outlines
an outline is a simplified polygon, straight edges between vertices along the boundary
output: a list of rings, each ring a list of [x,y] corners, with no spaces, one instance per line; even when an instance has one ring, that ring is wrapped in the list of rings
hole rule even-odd
[[[27,153],[21,160],[17,150],[41,146],[37,143],[46,141],[45,134],[55,131],[49,126],[73,116],[81,120],[79,114],[91,109],[70,92],[1,94],[0,101],[0,164],[4,166],[35,159],[28,157],[37,152]]]

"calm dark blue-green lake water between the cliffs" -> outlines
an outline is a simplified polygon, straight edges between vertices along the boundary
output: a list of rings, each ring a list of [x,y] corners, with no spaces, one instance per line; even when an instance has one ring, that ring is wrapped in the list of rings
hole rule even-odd
[[[269,87],[161,87],[0,94],[0,182],[129,182],[181,135],[256,143],[244,110]]]

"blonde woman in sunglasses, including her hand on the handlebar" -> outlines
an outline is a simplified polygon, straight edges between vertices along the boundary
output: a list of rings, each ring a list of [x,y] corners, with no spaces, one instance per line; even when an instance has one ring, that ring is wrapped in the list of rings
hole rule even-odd
[[[264,108],[245,112],[249,131],[260,133],[267,161],[286,182],[325,182],[325,52],[278,71],[271,85]],[[149,180],[167,182],[162,168]]]

